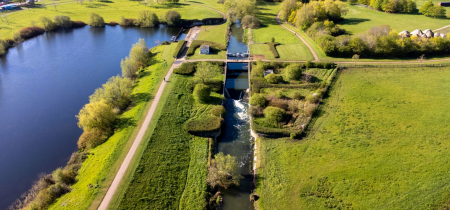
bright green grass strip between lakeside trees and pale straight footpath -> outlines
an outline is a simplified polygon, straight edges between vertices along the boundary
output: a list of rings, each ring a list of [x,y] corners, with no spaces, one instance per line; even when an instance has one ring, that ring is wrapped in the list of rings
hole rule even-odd
[[[157,53],[154,62],[141,73],[133,88],[134,106],[120,115],[121,124],[114,135],[104,144],[89,150],[89,158],[83,163],[72,191],[59,198],[50,209],[88,209],[94,200],[101,201],[134,140],[136,128],[142,123],[156,87],[170,67],[164,64],[164,60],[169,65],[173,62],[170,53],[166,52],[172,52],[174,47],[172,44],[152,49]]]

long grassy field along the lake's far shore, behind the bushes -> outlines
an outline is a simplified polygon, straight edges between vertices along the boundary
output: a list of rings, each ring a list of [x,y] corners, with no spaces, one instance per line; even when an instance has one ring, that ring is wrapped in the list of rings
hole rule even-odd
[[[140,10],[151,10],[155,12],[160,19],[164,19],[165,13],[170,10],[177,10],[183,19],[203,19],[211,17],[222,17],[219,13],[210,9],[199,7],[198,5],[180,2],[177,4],[155,4],[152,7],[145,6],[138,1],[111,0],[104,2],[85,1],[83,6],[77,3],[60,4],[56,7],[35,7],[33,9],[23,10],[8,15],[9,24],[0,22],[0,38],[13,37],[14,32],[21,28],[31,26],[32,21],[37,25],[40,16],[53,18],[55,15],[66,15],[72,20],[81,20],[87,22],[89,12],[100,14],[105,22],[120,22],[121,17],[136,18]]]

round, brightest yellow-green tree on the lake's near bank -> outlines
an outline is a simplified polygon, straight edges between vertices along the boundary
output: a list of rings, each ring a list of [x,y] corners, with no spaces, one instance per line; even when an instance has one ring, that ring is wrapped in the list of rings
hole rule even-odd
[[[78,127],[84,131],[97,128],[109,132],[116,119],[116,114],[111,105],[105,100],[101,100],[84,105],[76,117],[78,119]]]

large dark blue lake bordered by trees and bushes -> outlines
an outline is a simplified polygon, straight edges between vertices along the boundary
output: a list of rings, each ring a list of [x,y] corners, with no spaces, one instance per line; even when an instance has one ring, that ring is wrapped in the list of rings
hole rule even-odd
[[[144,38],[152,47],[179,31],[84,27],[46,33],[1,56],[0,209],[39,173],[66,164],[82,132],[75,115],[96,88],[121,73],[120,60],[132,44]]]

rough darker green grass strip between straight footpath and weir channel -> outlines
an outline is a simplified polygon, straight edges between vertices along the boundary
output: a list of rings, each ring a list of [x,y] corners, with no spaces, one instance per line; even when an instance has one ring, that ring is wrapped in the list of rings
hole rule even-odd
[[[171,76],[160,118],[117,209],[205,208],[208,141],[194,139],[183,125],[211,106],[195,102],[190,80]]]

